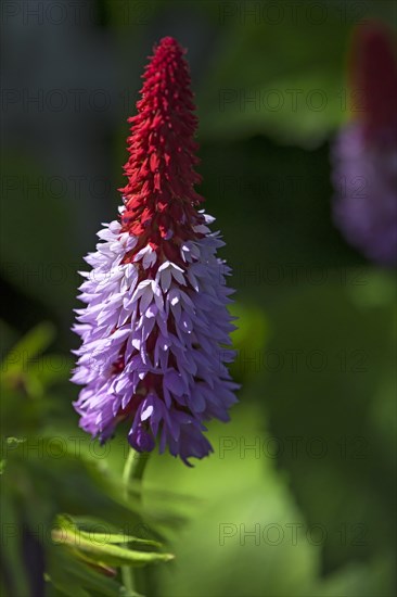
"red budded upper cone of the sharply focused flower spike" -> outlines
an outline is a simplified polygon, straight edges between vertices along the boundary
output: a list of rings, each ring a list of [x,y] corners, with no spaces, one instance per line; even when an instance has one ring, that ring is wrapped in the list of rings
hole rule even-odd
[[[198,162],[193,141],[197,120],[188,64],[172,38],[162,40],[143,77],[139,113],[129,119],[132,135],[125,166],[128,185],[120,189],[127,207],[123,219],[125,229],[139,236],[146,232],[157,244],[170,233],[190,234],[196,217],[193,205],[203,201],[194,190],[201,180],[193,169]]]

